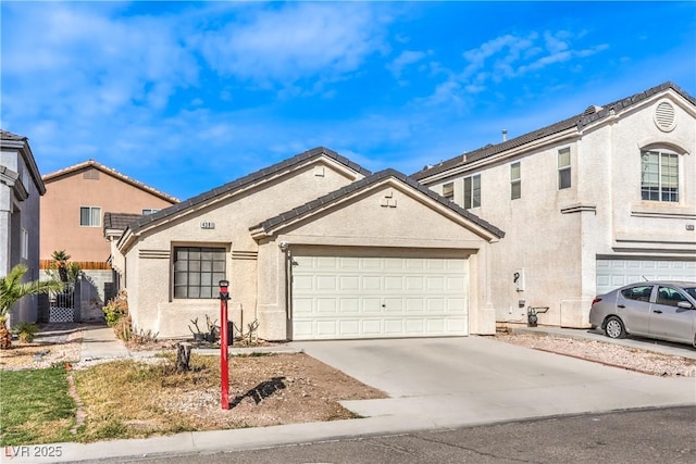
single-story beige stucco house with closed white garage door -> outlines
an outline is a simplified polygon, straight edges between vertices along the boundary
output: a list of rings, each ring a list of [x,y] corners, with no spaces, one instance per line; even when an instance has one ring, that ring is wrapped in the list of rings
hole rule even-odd
[[[113,248],[136,329],[259,322],[266,340],[495,333],[504,231],[396,171],[318,148],[129,224]],[[220,324],[220,322],[217,322]]]

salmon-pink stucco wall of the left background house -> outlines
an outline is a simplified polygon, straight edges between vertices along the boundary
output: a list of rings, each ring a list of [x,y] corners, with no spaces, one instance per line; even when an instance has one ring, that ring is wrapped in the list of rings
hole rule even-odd
[[[40,258],[50,260],[55,250],[65,250],[71,261],[104,262],[110,244],[103,236],[104,213],[136,213],[161,210],[174,204],[153,193],[133,186],[103,171],[98,179],[85,179],[88,167],[46,180],[46,195],[41,197]],[[101,208],[98,227],[79,225],[82,206]]]

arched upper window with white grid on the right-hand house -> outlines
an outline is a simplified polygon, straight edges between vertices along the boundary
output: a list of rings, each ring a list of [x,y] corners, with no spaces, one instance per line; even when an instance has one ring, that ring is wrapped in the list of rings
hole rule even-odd
[[[641,152],[641,198],[679,201],[679,158],[659,150]]]

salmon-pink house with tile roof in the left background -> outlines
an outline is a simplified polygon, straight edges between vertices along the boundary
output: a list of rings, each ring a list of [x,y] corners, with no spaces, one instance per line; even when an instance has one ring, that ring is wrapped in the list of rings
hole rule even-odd
[[[117,290],[108,265],[111,244],[104,238],[105,213],[150,214],[178,200],[94,160],[44,176],[40,258],[44,266],[65,250],[96,287],[96,306]],[[135,217],[135,216],[132,216]]]

